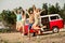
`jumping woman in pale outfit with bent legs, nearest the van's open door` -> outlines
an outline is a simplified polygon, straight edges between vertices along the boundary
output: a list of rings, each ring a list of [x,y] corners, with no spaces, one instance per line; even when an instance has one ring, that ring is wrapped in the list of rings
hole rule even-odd
[[[44,10],[42,10],[44,11]],[[40,26],[40,13],[42,12],[40,11],[39,9],[36,9],[34,11],[34,15],[35,15],[35,24],[32,25],[32,28],[35,30],[43,30],[42,27],[39,27]],[[40,33],[40,32],[39,32]]]

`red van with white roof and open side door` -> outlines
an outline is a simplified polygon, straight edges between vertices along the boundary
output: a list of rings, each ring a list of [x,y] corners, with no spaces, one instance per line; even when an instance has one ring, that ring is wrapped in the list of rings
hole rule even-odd
[[[40,16],[40,24],[43,26],[47,26],[47,28],[43,28],[44,31],[58,32],[60,29],[64,28],[64,22],[58,14]],[[28,25],[29,25],[28,19],[26,19],[25,34],[28,33]],[[34,29],[30,29],[29,32],[35,33],[37,31],[35,31]]]

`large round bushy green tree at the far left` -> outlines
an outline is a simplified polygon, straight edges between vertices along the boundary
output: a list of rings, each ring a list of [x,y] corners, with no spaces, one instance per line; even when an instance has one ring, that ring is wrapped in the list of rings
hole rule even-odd
[[[15,20],[16,20],[15,14],[9,10],[8,11],[3,10],[1,13],[1,16],[2,16],[2,22],[4,26],[10,27],[11,29],[11,26],[15,24]]]

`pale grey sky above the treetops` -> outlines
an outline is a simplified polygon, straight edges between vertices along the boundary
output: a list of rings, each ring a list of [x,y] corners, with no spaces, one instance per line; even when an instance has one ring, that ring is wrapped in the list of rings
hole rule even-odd
[[[63,8],[65,0],[0,0],[0,12],[2,10],[13,10],[18,6],[22,6],[24,10],[26,10],[32,4],[41,9],[42,3],[55,5],[56,2],[58,2],[58,4]]]

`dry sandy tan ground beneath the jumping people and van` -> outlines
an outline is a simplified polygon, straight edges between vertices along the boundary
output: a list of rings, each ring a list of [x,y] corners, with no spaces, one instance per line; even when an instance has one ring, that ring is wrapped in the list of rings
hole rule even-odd
[[[0,43],[65,43],[65,29],[58,33],[44,32],[42,35],[24,38],[20,32],[0,33]]]

